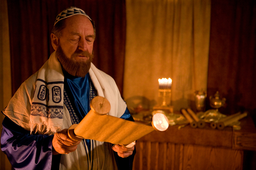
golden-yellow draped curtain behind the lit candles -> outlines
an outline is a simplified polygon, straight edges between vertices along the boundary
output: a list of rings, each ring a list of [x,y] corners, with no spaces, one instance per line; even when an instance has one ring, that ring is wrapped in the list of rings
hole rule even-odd
[[[123,96],[129,107],[159,103],[158,78],[171,78],[174,110],[194,108],[206,90],[210,0],[126,0]]]

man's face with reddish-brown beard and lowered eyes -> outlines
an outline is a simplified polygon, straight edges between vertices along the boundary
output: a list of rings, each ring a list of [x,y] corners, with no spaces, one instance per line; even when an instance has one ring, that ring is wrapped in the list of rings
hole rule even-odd
[[[66,18],[65,25],[56,54],[69,74],[84,77],[93,58],[95,36],[92,23],[86,16],[78,14]]]

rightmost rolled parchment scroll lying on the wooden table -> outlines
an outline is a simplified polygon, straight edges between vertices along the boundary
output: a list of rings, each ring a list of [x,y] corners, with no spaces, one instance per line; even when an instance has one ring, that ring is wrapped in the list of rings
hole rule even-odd
[[[218,123],[217,123],[217,128],[219,130],[222,130],[224,127],[231,125],[233,122],[236,122],[244,117],[247,116],[247,112],[244,112],[243,114],[240,113],[236,113],[234,115],[230,115],[224,119],[221,119]]]

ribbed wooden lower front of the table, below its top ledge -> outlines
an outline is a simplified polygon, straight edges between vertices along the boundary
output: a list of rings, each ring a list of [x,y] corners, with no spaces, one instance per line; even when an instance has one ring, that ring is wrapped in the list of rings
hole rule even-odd
[[[223,147],[137,141],[134,170],[242,170],[243,151]]]

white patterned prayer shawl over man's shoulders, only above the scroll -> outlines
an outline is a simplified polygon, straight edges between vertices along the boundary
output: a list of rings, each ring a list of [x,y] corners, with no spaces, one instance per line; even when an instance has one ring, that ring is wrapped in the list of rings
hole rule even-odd
[[[55,53],[54,51],[37,73],[22,83],[3,111],[13,122],[26,130],[53,134],[63,129],[64,75]],[[121,98],[114,79],[93,64],[89,75],[97,94],[109,100],[109,115],[121,117],[126,103]],[[30,112],[33,115],[30,115]]]

